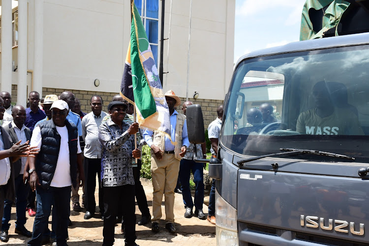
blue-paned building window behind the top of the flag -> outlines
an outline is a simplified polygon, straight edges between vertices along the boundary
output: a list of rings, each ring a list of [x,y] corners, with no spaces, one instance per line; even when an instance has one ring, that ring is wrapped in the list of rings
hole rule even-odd
[[[159,0],[134,0],[149,38],[155,64],[157,66],[159,36]]]

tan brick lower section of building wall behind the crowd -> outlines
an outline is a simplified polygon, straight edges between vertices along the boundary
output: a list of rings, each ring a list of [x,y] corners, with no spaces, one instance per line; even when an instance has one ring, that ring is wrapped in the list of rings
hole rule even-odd
[[[114,95],[118,94],[118,93],[113,93],[113,92],[96,92],[96,91],[92,92],[92,91],[79,91],[79,90],[56,89],[56,88],[45,88],[44,87],[42,88],[42,96],[44,97],[48,94],[60,95],[64,91],[73,92],[74,95],[81,101],[81,110],[86,113],[91,112],[90,100],[91,100],[92,95],[101,95],[101,98],[104,101],[102,110],[105,112],[108,112],[109,102],[111,102]],[[12,85],[11,97],[12,97],[13,102],[17,101],[17,85]],[[184,103],[185,100],[186,100],[185,98],[181,97],[182,103]],[[190,98],[190,101],[193,104],[201,105],[201,109],[202,109],[203,117],[204,117],[205,129],[207,129],[208,125],[216,119],[217,117],[216,108],[219,105],[223,104],[223,100],[215,100],[215,99]],[[183,113],[182,105],[177,107],[177,111],[179,111],[180,113]]]

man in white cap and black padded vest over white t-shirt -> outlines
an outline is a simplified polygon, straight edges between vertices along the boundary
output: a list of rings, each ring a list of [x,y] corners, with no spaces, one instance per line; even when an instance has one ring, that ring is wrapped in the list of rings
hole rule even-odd
[[[48,227],[52,205],[56,218],[56,243],[66,245],[70,215],[71,185],[77,182],[77,154],[81,153],[78,129],[66,120],[68,104],[57,100],[52,106],[52,121],[33,129],[31,144],[40,148],[35,158],[29,158],[30,186],[36,190],[37,212],[29,246],[39,246]],[[82,163],[78,165],[81,167]]]

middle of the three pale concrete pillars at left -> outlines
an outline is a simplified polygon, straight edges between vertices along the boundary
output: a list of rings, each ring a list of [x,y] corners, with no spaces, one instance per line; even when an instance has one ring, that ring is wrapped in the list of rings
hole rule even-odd
[[[18,0],[18,95],[17,104],[27,105],[28,3]]]

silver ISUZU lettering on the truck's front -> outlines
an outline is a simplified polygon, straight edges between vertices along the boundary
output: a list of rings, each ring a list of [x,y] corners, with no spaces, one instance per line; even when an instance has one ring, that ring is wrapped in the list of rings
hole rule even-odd
[[[339,219],[328,219],[324,220],[324,218],[319,218],[317,216],[306,216],[300,215],[300,223],[301,226],[306,226],[310,228],[318,228],[320,227],[322,230],[326,231],[337,231],[348,233],[348,228],[350,228],[350,232],[352,235],[363,236],[364,235],[364,224],[360,223],[359,225],[354,222],[347,222]],[[333,224],[335,225],[333,227]],[[350,226],[349,226],[350,225]]]

